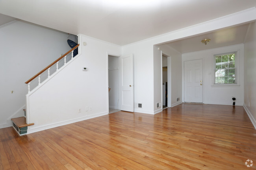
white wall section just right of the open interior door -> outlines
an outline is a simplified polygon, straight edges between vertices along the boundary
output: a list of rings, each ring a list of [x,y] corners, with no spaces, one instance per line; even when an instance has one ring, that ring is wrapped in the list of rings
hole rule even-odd
[[[142,108],[135,108],[134,112],[154,113],[154,85],[153,85],[153,45],[143,41],[122,47],[122,54],[134,56],[134,103],[141,103]]]

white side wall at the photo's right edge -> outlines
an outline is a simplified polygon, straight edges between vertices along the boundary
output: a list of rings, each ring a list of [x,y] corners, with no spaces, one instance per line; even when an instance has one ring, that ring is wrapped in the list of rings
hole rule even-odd
[[[245,40],[244,107],[256,128],[256,22],[250,24]]]

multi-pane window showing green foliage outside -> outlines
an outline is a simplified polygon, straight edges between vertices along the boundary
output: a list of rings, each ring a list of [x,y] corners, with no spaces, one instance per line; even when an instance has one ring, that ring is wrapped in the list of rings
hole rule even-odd
[[[237,84],[236,58],[237,53],[214,55],[215,77],[214,84]]]

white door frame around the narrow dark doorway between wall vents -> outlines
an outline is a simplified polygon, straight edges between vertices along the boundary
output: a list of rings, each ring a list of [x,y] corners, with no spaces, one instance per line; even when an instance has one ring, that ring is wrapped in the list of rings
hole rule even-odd
[[[163,55],[167,56],[167,107],[171,108],[171,56],[161,51],[161,91],[163,91]],[[169,61],[169,62],[168,62]],[[161,104],[163,110],[163,93],[161,93]]]

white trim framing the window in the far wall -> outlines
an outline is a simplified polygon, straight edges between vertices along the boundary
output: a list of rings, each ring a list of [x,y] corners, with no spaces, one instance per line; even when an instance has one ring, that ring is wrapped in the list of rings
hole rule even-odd
[[[236,53],[236,59],[235,59],[235,63],[236,63],[236,84],[215,84],[215,62],[216,62],[216,55],[225,55],[225,54],[230,54],[230,53]],[[217,54],[213,54],[212,57],[213,60],[213,74],[212,74],[212,82],[211,82],[211,86],[212,87],[238,87],[240,86],[240,79],[239,79],[239,75],[240,75],[240,50],[231,50],[229,52],[225,52],[225,53],[217,53]]]

